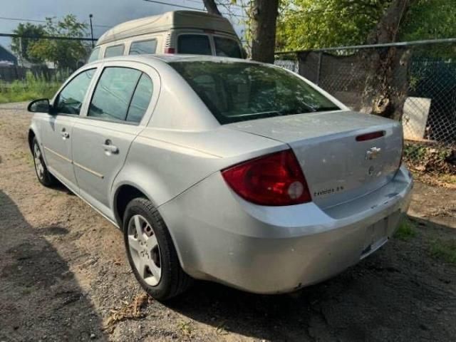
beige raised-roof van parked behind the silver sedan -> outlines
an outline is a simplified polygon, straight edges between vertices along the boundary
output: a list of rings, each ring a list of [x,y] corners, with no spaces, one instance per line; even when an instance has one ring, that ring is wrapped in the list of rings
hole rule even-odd
[[[170,11],[110,28],[98,39],[88,62],[144,53],[244,58],[239,38],[226,18],[205,12]]]

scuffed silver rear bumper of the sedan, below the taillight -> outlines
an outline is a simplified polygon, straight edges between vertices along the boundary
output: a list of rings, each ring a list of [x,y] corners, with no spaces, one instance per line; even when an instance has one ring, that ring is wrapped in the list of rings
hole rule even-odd
[[[337,207],[261,207],[217,173],[159,210],[188,274],[273,294],[328,279],[381,247],[407,212],[412,187],[401,167],[388,185]]]

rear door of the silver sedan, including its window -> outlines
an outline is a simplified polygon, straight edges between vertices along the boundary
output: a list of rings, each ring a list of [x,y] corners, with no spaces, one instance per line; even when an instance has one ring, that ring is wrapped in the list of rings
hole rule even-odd
[[[113,219],[110,191],[130,145],[147,125],[160,81],[133,62],[105,63],[86,115],[73,126],[73,165],[81,197]]]

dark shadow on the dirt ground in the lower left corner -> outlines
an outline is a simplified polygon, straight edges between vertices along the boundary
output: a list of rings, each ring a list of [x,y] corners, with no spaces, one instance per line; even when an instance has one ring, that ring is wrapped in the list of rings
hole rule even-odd
[[[0,191],[0,232],[0,341],[104,341],[100,317],[43,237],[68,231],[33,229]]]

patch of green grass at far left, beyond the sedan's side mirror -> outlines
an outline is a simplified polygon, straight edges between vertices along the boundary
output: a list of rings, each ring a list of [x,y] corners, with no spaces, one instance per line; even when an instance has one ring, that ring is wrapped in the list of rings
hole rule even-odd
[[[24,81],[0,82],[0,103],[24,102],[37,98],[52,98],[61,82],[27,73]]]

